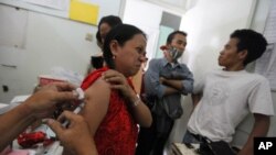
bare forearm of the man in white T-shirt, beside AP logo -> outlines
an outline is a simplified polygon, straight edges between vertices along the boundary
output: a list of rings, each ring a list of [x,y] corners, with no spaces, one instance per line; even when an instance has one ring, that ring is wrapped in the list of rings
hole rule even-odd
[[[270,124],[270,118],[268,115],[254,113],[254,119],[255,119],[255,123],[247,139],[247,142],[245,143],[244,147],[238,152],[237,155],[253,155],[254,154],[253,153],[254,137],[266,136],[268,132],[269,124]]]

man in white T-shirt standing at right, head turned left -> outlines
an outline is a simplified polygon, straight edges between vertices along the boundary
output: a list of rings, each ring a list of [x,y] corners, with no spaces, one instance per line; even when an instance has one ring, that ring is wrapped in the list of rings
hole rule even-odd
[[[251,112],[254,128],[238,155],[253,155],[254,137],[266,136],[274,108],[268,80],[247,73],[245,66],[261,57],[266,45],[264,36],[253,30],[236,30],[231,34],[219,56],[219,65],[224,68],[208,74],[194,86],[197,107],[189,120],[184,143],[204,140],[227,144],[237,124]]]

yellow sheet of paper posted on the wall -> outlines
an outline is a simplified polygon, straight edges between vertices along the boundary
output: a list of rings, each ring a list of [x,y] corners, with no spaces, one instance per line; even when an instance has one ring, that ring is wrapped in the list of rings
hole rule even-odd
[[[71,20],[96,25],[97,18],[98,18],[98,5],[82,2],[81,0],[71,0],[70,3]]]

